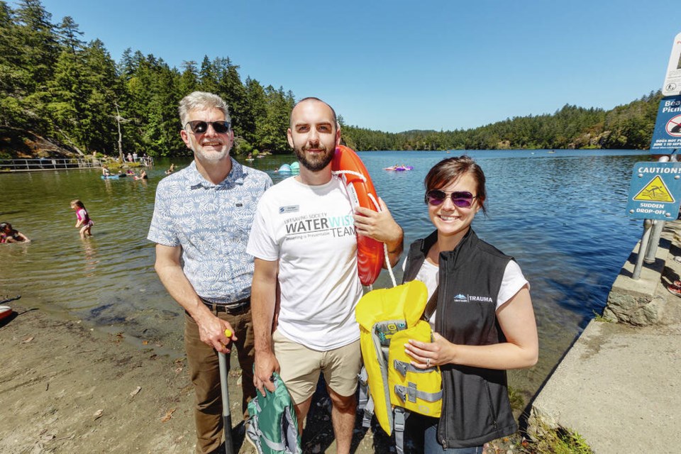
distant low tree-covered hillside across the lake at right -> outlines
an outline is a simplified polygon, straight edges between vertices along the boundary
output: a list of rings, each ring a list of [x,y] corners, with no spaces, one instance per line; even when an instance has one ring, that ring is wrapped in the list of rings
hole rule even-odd
[[[614,109],[566,104],[553,114],[508,118],[456,131],[384,133],[343,126],[345,143],[356,150],[489,150],[618,148],[646,150],[655,127],[661,92]]]

